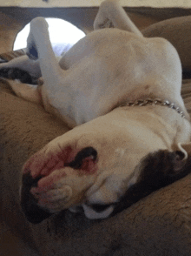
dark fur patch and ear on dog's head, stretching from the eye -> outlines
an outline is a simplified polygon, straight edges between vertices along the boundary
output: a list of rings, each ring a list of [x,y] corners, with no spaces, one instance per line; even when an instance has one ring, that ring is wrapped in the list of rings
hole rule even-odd
[[[156,190],[184,178],[191,172],[191,143],[175,145],[175,152],[160,150],[142,159],[140,174],[115,205],[112,216]]]

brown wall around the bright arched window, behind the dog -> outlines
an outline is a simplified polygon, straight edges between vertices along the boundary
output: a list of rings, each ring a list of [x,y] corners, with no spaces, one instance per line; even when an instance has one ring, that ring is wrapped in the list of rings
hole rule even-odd
[[[1,4],[6,5],[7,3],[10,6],[0,7],[0,53],[5,51],[12,51],[14,40],[16,34],[19,30],[22,30],[25,24],[30,23],[31,19],[34,17],[59,17],[69,21],[72,24],[75,24],[79,29],[83,30],[86,33],[89,33],[93,29],[93,22],[98,11],[98,7],[72,7],[72,8],[15,8],[11,7],[13,4],[24,5],[26,3],[39,3],[44,4],[44,6],[50,6],[50,3],[56,3],[58,0],[49,0],[49,3],[43,2],[42,0],[10,0],[4,1],[0,0]],[[123,3],[150,3],[153,5],[156,3],[171,3],[171,0],[123,0]],[[181,1],[188,3],[190,0],[173,0],[177,5],[181,4]],[[62,0],[59,3],[99,3],[101,0],[92,1],[92,0]],[[78,4],[78,5],[79,5]],[[191,4],[191,1],[190,1]],[[126,4],[127,5],[127,4]],[[191,7],[190,7],[191,8]],[[128,16],[132,19],[135,25],[140,29],[144,29],[150,24],[159,22],[161,20],[171,18],[171,17],[181,17],[191,15],[191,9],[178,9],[178,8],[147,8],[147,7],[125,7],[128,12]]]

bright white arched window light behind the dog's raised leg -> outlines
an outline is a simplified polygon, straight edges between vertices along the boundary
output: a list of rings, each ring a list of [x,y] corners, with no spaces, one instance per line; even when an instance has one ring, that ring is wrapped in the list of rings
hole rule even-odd
[[[75,25],[70,24],[63,19],[48,17],[46,18],[46,21],[49,24],[50,42],[53,51],[57,56],[69,51],[69,48],[73,44],[76,44],[78,40],[85,37],[85,33],[82,30],[79,30]],[[26,48],[29,33],[30,24],[27,24],[16,36],[16,41],[13,47],[14,51]]]

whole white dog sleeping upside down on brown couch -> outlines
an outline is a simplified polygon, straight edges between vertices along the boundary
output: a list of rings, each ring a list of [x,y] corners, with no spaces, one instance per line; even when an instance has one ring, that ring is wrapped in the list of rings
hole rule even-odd
[[[35,65],[43,85],[12,88],[18,96],[43,104],[70,127],[80,125],[23,166],[23,210],[33,222],[66,208],[77,211],[78,205],[89,219],[106,218],[128,188],[141,182],[142,163],[150,153],[179,150],[182,155],[175,154],[171,161],[175,172],[188,158],[184,144],[190,142],[191,127],[181,98],[181,62],[175,48],[165,39],[142,37],[114,1],[102,3],[94,25],[95,31],[58,63],[47,24],[43,18],[31,22],[28,47],[37,49]],[[107,25],[112,28],[99,30]],[[0,68],[6,65],[11,63]],[[185,118],[161,104],[120,107],[147,98],[175,103]],[[107,208],[96,212],[92,205]],[[38,220],[32,217],[34,212],[40,212]]]

